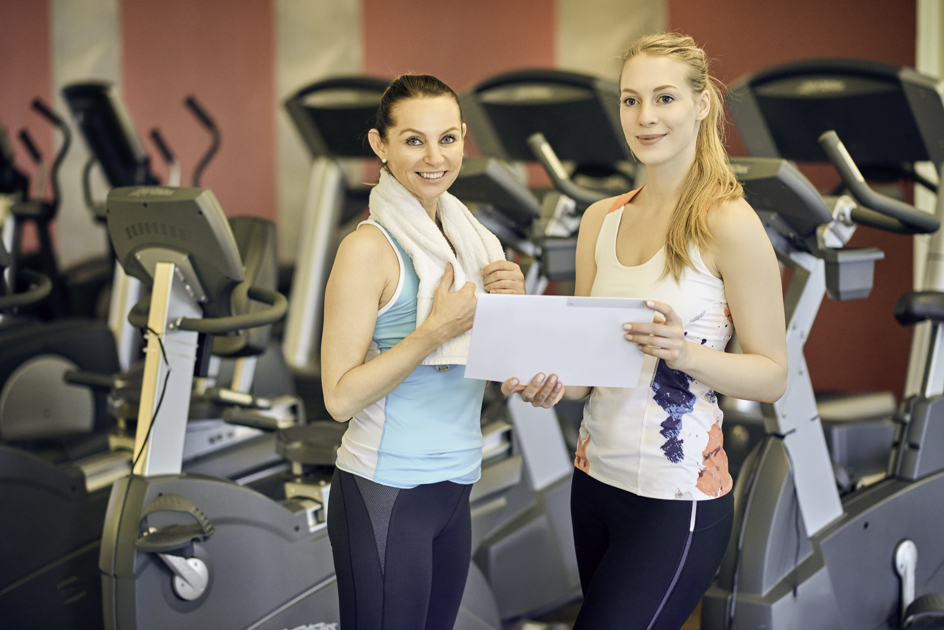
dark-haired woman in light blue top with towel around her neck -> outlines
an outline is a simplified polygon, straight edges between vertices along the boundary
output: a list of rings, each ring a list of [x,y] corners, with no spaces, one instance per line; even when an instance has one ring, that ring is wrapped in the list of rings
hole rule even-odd
[[[345,630],[451,629],[469,572],[485,390],[464,378],[475,294],[524,293],[524,276],[446,192],[465,131],[438,79],[387,88],[368,135],[383,163],[370,219],[325,291],[325,405],[350,421],[328,506]]]

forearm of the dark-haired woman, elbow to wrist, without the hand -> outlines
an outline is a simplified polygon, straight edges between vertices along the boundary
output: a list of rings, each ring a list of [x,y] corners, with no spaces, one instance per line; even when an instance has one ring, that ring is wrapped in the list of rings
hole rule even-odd
[[[328,413],[339,422],[350,419],[396,389],[448,339],[446,331],[420,326],[390,350],[345,372],[334,385],[323,383]]]

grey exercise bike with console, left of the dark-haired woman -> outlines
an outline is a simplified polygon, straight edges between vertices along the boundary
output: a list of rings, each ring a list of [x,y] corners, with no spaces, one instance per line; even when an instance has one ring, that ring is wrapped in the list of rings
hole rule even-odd
[[[135,229],[155,216],[166,232]],[[153,332],[135,474],[115,484],[106,516],[100,560],[106,627],[336,623],[326,484],[312,484],[304,495],[298,484],[292,498],[276,502],[228,480],[180,474],[198,334],[270,324],[284,314],[285,298],[247,286],[236,242],[209,191],[113,189],[108,226],[126,271],[152,287]],[[233,315],[237,297],[269,306]]]

